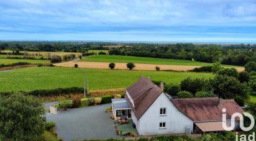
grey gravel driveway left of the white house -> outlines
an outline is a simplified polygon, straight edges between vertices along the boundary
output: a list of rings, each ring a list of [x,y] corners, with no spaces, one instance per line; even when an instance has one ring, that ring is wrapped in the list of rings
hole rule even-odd
[[[57,132],[63,140],[119,138],[114,133],[111,112],[104,112],[111,104],[82,107],[47,114],[47,121],[57,123]]]

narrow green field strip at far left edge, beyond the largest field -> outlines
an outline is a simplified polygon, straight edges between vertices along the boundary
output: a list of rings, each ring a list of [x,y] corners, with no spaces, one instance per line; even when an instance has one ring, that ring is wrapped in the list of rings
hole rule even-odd
[[[11,64],[18,62],[27,62],[27,63],[50,63],[49,60],[27,60],[27,59],[8,59],[8,58],[0,58],[0,64]]]

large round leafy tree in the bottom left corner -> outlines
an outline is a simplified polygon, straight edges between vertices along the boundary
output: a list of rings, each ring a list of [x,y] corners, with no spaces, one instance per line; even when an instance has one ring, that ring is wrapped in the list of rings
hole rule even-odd
[[[45,110],[39,99],[0,95],[0,140],[34,140],[43,133]]]

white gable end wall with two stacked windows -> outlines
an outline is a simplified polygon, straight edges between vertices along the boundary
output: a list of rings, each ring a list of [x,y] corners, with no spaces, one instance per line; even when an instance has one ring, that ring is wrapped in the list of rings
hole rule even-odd
[[[160,116],[161,107],[167,108],[166,116]],[[134,117],[133,114],[132,120],[140,135],[186,133],[186,127],[193,130],[193,121],[178,111],[164,93],[160,94],[139,121]],[[160,122],[165,122],[165,129],[159,128]]]

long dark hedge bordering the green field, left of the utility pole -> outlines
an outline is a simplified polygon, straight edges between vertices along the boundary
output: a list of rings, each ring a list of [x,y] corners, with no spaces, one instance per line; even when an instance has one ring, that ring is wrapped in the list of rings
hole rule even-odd
[[[33,96],[60,96],[66,94],[83,93],[83,88],[71,87],[71,88],[58,88],[58,89],[36,89],[27,92],[27,94]]]

